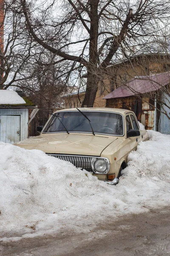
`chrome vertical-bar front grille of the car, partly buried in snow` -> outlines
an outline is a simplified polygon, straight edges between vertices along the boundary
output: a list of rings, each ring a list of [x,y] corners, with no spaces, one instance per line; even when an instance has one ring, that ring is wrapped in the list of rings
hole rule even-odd
[[[76,156],[76,155],[64,155],[64,154],[48,154],[53,157],[57,157],[61,160],[65,160],[74,164],[78,168],[85,169],[88,172],[93,172],[91,169],[91,162],[95,157]]]

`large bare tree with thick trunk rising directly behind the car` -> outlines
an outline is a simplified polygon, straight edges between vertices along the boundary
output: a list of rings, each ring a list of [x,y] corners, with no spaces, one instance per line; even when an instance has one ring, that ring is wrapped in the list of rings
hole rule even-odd
[[[93,106],[105,68],[125,47],[150,41],[157,34],[158,21],[168,18],[170,7],[169,0],[49,0],[44,7],[40,2],[30,6],[29,0],[20,3],[34,41],[58,55],[61,65],[70,61],[69,74],[86,71],[82,106]],[[57,47],[58,36],[61,47]]]

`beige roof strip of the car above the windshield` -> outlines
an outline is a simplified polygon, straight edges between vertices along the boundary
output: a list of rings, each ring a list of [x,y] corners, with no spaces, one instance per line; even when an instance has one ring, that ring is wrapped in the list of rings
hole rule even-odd
[[[126,113],[133,113],[133,111],[127,110],[127,109],[122,109],[122,108],[79,108],[79,110],[81,111],[108,111],[108,112],[116,112],[116,113],[120,113],[122,115],[125,115]],[[61,109],[57,112],[61,112],[61,111],[77,111],[77,108],[64,108]]]

